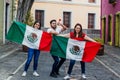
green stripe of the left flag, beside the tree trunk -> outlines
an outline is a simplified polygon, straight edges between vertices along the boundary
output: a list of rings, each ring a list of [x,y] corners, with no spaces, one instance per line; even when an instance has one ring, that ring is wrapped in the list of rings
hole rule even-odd
[[[6,39],[21,44],[24,39],[25,30],[26,24],[14,21],[8,31]]]

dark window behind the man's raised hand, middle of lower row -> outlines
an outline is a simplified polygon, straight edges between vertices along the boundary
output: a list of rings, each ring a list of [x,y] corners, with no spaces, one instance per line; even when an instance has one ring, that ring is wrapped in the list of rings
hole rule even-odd
[[[71,19],[71,13],[63,12],[63,24],[65,26],[70,27],[70,19]]]

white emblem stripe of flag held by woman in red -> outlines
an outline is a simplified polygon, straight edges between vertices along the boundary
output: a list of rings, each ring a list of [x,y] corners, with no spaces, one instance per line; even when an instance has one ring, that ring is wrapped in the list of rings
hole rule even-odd
[[[85,41],[69,39],[66,49],[66,58],[81,61],[84,53],[85,43]],[[77,51],[74,50],[75,47],[77,47]]]

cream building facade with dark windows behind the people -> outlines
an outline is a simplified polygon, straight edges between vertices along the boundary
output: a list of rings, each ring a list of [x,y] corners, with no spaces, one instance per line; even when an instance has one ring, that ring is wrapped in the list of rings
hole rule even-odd
[[[35,0],[31,12],[41,26],[48,28],[52,19],[69,28],[81,23],[84,29],[100,29],[100,0]]]

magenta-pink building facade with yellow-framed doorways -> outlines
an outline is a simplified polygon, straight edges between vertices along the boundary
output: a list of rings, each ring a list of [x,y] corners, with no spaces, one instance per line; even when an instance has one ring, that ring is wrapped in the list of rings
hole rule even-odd
[[[120,0],[101,0],[101,18],[104,43],[120,47]]]

